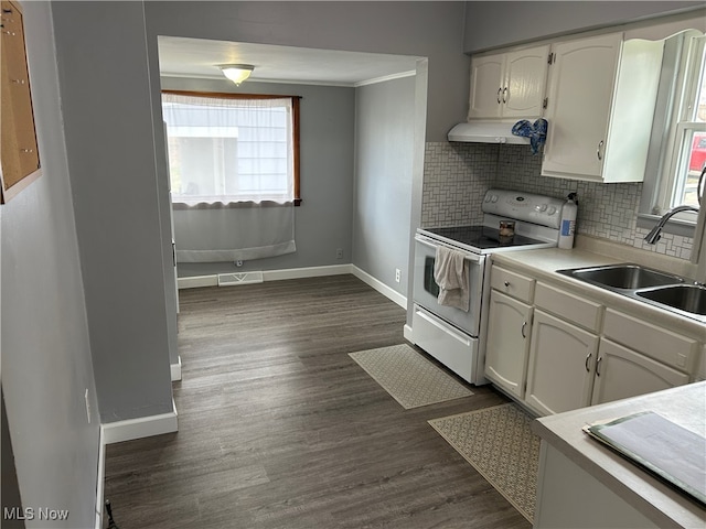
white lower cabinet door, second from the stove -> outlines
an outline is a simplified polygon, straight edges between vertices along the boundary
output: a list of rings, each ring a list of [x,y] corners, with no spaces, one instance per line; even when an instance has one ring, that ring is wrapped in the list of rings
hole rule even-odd
[[[543,415],[588,406],[597,350],[598,336],[535,310],[527,406]]]

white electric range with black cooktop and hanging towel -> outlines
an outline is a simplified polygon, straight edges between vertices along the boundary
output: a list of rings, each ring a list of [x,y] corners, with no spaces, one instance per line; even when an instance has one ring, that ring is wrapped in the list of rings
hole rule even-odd
[[[483,222],[473,226],[419,228],[415,235],[413,342],[463,380],[486,384],[485,330],[493,252],[557,246],[564,201],[507,190],[489,190]],[[500,237],[500,223],[514,236]],[[504,240],[503,240],[504,239]],[[434,269],[439,248],[463,253],[470,290],[468,311],[440,304]]]

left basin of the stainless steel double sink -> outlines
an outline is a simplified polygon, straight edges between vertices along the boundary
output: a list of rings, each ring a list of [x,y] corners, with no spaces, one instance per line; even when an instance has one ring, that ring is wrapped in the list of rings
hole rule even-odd
[[[621,290],[635,290],[684,282],[684,279],[678,276],[660,272],[639,264],[610,264],[557,271],[598,287]]]

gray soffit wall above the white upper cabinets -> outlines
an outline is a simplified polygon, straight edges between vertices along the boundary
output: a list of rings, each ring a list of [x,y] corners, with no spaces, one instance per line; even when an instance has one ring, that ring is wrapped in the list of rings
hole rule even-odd
[[[685,1],[467,2],[463,50],[483,50],[703,8]]]

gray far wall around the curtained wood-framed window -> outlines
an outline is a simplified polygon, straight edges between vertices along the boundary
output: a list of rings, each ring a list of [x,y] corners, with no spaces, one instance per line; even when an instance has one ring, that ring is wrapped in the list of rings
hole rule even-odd
[[[301,206],[295,208],[297,252],[269,259],[180,263],[179,276],[244,270],[281,270],[351,262],[353,216],[353,147],[355,89],[334,86],[280,85],[247,82],[239,88],[228,80],[164,77],[164,89],[285,94],[301,96]],[[178,215],[180,212],[175,212]],[[343,250],[336,259],[335,250]]]

